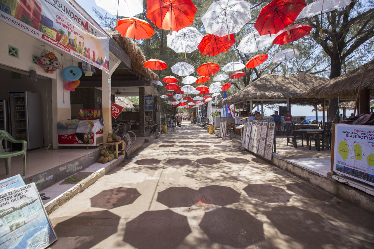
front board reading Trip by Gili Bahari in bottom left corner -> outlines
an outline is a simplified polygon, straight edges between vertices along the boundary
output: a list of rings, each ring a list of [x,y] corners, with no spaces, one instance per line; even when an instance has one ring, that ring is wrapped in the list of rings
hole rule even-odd
[[[46,248],[57,240],[35,183],[0,194],[0,248]]]

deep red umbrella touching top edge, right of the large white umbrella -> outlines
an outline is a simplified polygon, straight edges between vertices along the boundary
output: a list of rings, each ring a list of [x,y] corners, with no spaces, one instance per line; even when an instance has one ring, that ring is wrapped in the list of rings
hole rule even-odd
[[[261,9],[254,27],[260,36],[276,34],[295,21],[305,0],[273,0]]]

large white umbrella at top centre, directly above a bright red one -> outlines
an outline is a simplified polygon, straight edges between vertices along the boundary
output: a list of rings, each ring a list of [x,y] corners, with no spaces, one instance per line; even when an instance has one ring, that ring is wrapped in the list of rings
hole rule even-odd
[[[219,37],[237,33],[251,20],[251,3],[244,0],[213,2],[201,18],[205,32]]]

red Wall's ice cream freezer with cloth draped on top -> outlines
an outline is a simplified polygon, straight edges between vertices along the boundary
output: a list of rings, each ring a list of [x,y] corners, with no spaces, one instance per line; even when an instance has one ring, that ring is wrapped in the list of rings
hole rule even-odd
[[[58,146],[96,146],[103,143],[102,128],[104,122],[99,119],[62,120],[57,124]]]

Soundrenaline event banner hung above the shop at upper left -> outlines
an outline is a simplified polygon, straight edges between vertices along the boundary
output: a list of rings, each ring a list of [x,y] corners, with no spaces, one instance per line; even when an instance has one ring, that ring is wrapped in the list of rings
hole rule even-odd
[[[68,0],[0,2],[0,19],[109,73],[109,36]]]

